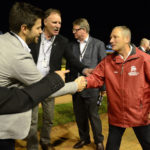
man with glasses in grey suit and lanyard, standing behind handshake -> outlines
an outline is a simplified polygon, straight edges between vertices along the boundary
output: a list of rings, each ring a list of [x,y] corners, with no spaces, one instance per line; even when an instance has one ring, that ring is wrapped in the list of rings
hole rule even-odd
[[[79,18],[73,22],[73,34],[77,41],[72,43],[73,54],[84,65],[95,68],[106,56],[105,45],[102,41],[89,35],[90,26],[85,18]],[[72,65],[67,64],[70,69],[69,80],[74,80],[81,74]],[[104,90],[104,89],[103,89]],[[85,89],[73,95],[73,108],[79,129],[80,141],[74,148],[81,148],[90,143],[89,124],[90,120],[96,150],[103,150],[102,125],[98,114],[97,100],[100,89]]]

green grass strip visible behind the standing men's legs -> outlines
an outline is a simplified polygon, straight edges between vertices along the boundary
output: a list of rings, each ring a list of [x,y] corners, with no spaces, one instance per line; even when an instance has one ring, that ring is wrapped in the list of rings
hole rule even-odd
[[[106,112],[107,112],[107,98],[106,96],[104,96],[102,105],[99,108],[99,114]],[[72,103],[55,105],[53,126],[62,125],[74,121],[75,116],[73,112]],[[39,108],[39,124],[38,124],[39,129],[41,128],[41,124],[42,124],[42,108]]]

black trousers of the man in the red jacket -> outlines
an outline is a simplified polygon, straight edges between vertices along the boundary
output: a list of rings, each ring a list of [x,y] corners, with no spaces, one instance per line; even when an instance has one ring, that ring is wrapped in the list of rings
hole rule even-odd
[[[126,128],[109,125],[106,150],[119,150],[125,129]],[[150,150],[150,125],[133,127],[133,130],[143,150]]]

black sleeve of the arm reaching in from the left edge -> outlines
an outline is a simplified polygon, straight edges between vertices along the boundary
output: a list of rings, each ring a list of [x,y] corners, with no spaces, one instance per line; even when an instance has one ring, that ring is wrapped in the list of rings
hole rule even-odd
[[[25,112],[64,86],[56,73],[24,89],[0,87],[0,115]]]

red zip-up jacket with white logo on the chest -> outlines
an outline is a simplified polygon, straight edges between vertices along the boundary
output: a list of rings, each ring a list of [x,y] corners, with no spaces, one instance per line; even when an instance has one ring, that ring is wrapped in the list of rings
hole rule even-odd
[[[86,77],[87,88],[106,84],[109,124],[135,127],[150,124],[150,55],[133,47],[126,61],[115,52]]]

